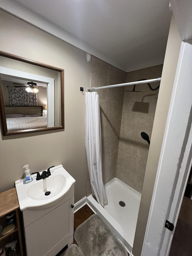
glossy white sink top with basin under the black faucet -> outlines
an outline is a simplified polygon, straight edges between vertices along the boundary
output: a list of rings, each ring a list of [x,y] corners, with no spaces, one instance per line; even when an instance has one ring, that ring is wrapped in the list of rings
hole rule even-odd
[[[21,211],[32,208],[35,210],[37,207],[44,209],[52,206],[54,202],[64,198],[75,183],[75,179],[67,173],[62,165],[52,167],[50,171],[51,176],[48,178],[37,181],[37,174],[33,174],[33,181],[28,184],[23,184],[23,179],[15,182]],[[47,191],[50,191],[50,194],[47,193],[49,195],[45,195]]]

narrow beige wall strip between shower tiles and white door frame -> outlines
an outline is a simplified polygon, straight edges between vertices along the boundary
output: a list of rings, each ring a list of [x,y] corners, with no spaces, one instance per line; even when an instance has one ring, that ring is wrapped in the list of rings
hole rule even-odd
[[[181,38],[172,16],[133,245],[134,256],[141,255],[143,246],[180,48]]]

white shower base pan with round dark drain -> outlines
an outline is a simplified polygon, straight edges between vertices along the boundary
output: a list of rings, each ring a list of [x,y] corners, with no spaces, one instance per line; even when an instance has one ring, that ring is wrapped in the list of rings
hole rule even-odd
[[[92,195],[87,197],[87,204],[101,216],[127,250],[131,252],[141,194],[117,178],[108,182],[105,189],[108,205],[103,208]]]

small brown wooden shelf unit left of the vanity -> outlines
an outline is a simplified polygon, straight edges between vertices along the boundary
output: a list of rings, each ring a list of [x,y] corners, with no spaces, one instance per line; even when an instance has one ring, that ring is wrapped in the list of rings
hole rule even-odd
[[[18,232],[20,253],[21,256],[23,256],[21,229],[19,221],[19,202],[17,198],[16,188],[11,188],[7,191],[0,193],[0,218],[4,217],[5,215],[13,211],[15,211],[16,214],[15,229],[8,233],[7,235],[1,236],[0,241],[10,236],[11,234]]]

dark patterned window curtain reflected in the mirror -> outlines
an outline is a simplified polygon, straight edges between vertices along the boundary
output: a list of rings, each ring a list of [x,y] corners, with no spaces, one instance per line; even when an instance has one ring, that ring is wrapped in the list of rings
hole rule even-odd
[[[35,92],[27,92],[25,88],[8,86],[9,105],[12,106],[37,106],[38,97]]]

